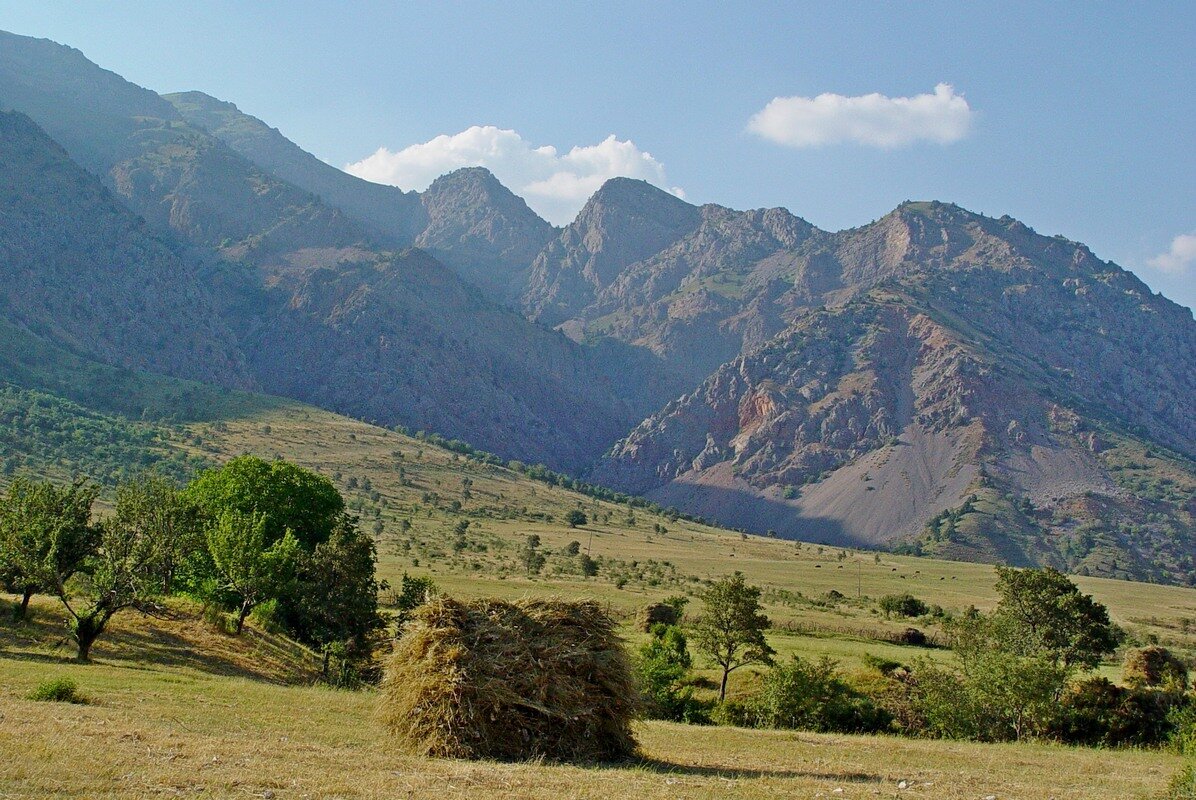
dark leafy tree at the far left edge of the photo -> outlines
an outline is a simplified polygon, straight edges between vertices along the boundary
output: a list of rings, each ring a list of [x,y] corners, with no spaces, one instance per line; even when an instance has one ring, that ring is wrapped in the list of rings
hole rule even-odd
[[[18,477],[10,484],[0,505],[0,582],[20,594],[17,618],[25,617],[33,594],[57,594],[94,551],[97,491],[81,481],[56,487]]]

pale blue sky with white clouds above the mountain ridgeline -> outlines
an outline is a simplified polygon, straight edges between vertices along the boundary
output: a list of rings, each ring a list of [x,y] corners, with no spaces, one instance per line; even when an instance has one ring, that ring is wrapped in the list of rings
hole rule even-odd
[[[380,179],[489,152],[554,221],[604,171],[829,230],[936,199],[1082,240],[1196,306],[1191,2],[41,0],[0,4],[0,28],[232,100]],[[842,97],[749,127],[819,94]]]

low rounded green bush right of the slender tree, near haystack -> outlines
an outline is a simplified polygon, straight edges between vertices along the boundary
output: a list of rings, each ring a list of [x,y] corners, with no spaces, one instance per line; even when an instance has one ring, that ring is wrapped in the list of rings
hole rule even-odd
[[[798,655],[774,665],[761,689],[744,703],[744,721],[761,728],[872,733],[889,728],[891,716],[843,679],[829,658]]]

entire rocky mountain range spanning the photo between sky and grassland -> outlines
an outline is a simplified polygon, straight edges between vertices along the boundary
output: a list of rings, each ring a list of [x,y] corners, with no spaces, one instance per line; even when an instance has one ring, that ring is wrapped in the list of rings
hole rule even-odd
[[[372,184],[7,33],[0,106],[0,312],[90,359],[756,532],[1192,572],[1196,322],[1081,244],[938,202],[825,232],[626,178],[560,230],[484,169]]]

